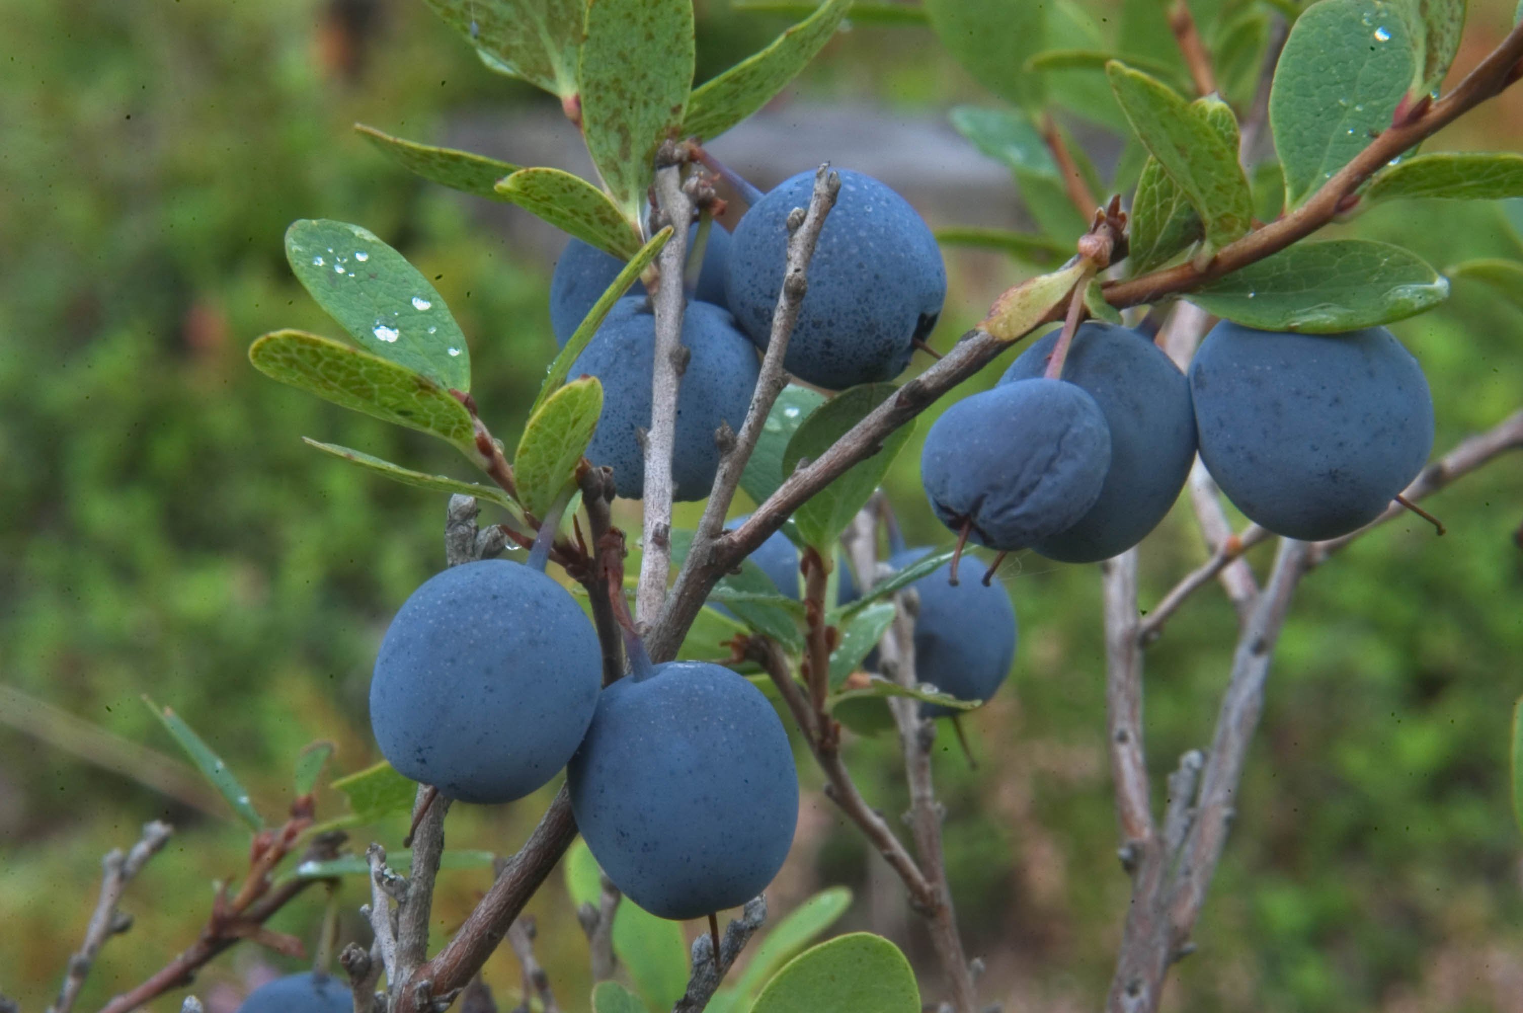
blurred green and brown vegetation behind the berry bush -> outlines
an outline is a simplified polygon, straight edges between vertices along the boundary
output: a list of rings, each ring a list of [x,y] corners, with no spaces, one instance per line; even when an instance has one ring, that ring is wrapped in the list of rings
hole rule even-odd
[[[698,8],[701,78],[786,24],[725,0]],[[1090,9],[1110,23],[1112,5]],[[1461,67],[1511,14],[1511,0],[1473,5]],[[177,827],[129,890],[136,928],[110,943],[79,1005],[96,1008],[187,944],[209,882],[241,879],[247,861],[245,832],[180,774],[140,695],[196,727],[267,815],[288,804],[308,742],[337,743],[337,772],[379,759],[369,669],[394,608],[442,565],[443,503],[299,437],[469,477],[419,434],[248,367],[248,341],[265,331],[337,334],[289,276],[285,227],[359,222],[440,274],[472,340],[477,401],[512,445],[554,350],[551,259],[507,239],[484,203],[404,175],[349,125],[437,140],[454,120],[556,107],[484,70],[413,0],[0,0],[0,992],[41,1010],[88,919],[101,855],[146,820]],[[864,26],[838,37],[792,94],[917,120],[991,102],[924,29]],[[1518,149],[1518,96],[1430,149],[1444,142]],[[786,152],[797,169],[839,157]],[[1355,228],[1439,267],[1523,254],[1488,206],[1398,204]],[[1025,271],[970,253],[949,254],[949,268],[943,347]],[[1489,291],[1462,283],[1395,329],[1430,378],[1439,449],[1523,404],[1523,314]],[[918,439],[889,492],[912,541],[946,542],[917,460]],[[1307,580],[1200,952],[1176,969],[1168,1008],[1523,1008],[1523,867],[1505,769],[1523,692],[1523,468],[1499,462],[1430,506],[1444,539],[1395,522]],[[1144,605],[1202,558],[1176,510],[1144,547]],[[988,964],[987,999],[1097,1008],[1129,896],[1104,753],[1098,571],[1027,556],[1005,579],[1022,623],[1014,676],[967,722],[979,768],[950,746],[938,768],[953,893],[970,952]],[[1208,742],[1234,632],[1231,608],[1205,593],[1150,649],[1156,775]],[[880,807],[903,807],[892,743],[853,740],[848,759]],[[900,943],[935,996],[897,884],[801,769],[810,792],[774,912],[825,884],[851,885],[841,925]],[[547,800],[461,807],[451,847],[510,852]],[[334,792],[320,806],[341,812]],[[404,832],[361,830],[359,842],[398,845]],[[440,937],[486,885],[486,873],[445,874]],[[358,887],[341,893],[346,938],[359,928]],[[274,928],[314,940],[320,893]],[[530,911],[562,1004],[585,1008],[586,951],[559,876]],[[242,946],[196,992],[231,1010],[299,966]],[[486,978],[504,1008],[516,1002],[506,947]],[[155,1008],[177,1010],[178,998]]]

